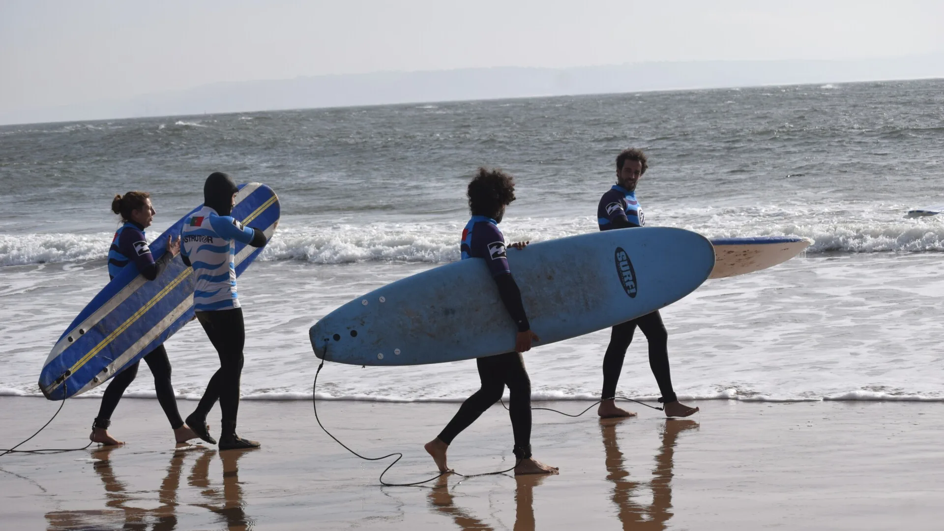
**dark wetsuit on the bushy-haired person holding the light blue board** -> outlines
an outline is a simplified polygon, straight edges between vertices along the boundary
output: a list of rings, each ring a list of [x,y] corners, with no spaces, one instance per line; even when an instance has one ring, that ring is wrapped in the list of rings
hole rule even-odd
[[[473,216],[463,231],[463,258],[483,258],[498,287],[498,295],[505,309],[514,319],[518,332],[528,332],[531,325],[521,301],[521,291],[514,282],[505,255],[505,237],[498,231],[494,219]],[[501,399],[505,385],[511,393],[509,415],[514,433],[514,455],[518,459],[531,457],[531,379],[524,359],[518,352],[505,352],[476,360],[481,386],[465,400],[452,420],[443,428],[439,439],[451,444],[482,413]]]

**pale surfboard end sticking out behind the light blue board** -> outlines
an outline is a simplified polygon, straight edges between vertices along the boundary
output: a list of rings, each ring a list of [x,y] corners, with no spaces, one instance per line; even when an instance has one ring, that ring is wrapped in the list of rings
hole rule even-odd
[[[715,268],[709,279],[723,279],[767,269],[800,254],[813,240],[802,236],[715,238]]]

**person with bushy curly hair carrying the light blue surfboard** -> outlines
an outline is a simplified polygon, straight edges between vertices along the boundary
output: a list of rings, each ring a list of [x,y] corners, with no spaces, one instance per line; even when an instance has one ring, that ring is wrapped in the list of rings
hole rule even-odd
[[[468,199],[472,218],[463,230],[462,258],[478,258],[484,261],[484,266],[492,273],[498,295],[514,320],[518,333],[513,352],[476,360],[481,380],[480,389],[465,400],[439,437],[430,440],[425,448],[440,472],[450,471],[446,453],[452,439],[497,403],[505,391],[505,385],[508,385],[511,392],[509,415],[512,418],[514,456],[517,459],[514,474],[557,473],[556,468],[548,467],[531,457],[531,379],[525,369],[521,352],[530,351],[531,342],[540,339],[531,332],[531,325],[521,301],[521,291],[514,282],[512,270],[508,267],[505,236],[498,230],[505,207],[514,201],[514,179],[499,170],[479,168],[475,178],[469,182]],[[518,242],[512,247],[521,250],[528,243]]]

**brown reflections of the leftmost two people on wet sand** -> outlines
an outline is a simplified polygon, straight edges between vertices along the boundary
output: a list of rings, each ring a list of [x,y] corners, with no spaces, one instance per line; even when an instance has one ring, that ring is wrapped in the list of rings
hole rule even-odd
[[[167,475],[158,489],[158,503],[156,508],[143,508],[134,505],[153,505],[150,498],[151,491],[129,490],[127,484],[120,480],[111,467],[111,453],[120,449],[120,446],[103,447],[92,452],[95,474],[105,486],[105,505],[107,509],[54,511],[46,513],[48,529],[52,530],[79,530],[79,529],[140,529],[142,531],[173,531],[177,529],[177,505],[180,487],[180,474],[184,467],[184,459],[189,454],[198,454],[194,467],[188,476],[188,484],[200,488],[200,494],[211,503],[190,504],[210,509],[220,516],[220,522],[229,529],[242,531],[252,528],[253,522],[244,514],[242,488],[239,486],[237,462],[245,452],[222,452],[220,459],[223,462],[223,491],[211,486],[209,478],[210,463],[215,450],[208,450],[201,446],[178,444],[171,455]]]

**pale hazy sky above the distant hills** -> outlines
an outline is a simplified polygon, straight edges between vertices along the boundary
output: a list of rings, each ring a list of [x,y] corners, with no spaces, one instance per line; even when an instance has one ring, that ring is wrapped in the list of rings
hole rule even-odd
[[[942,0],[0,0],[0,111],[325,74],[939,53],[941,27]]]

